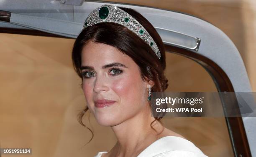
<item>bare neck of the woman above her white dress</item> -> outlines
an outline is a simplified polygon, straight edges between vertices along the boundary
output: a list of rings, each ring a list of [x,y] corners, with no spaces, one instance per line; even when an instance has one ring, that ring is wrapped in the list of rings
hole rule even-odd
[[[115,157],[132,157],[137,156],[148,145],[157,140],[157,132],[161,132],[163,126],[151,117],[150,107],[143,110],[136,116],[132,117],[119,125],[112,127],[117,137],[117,143],[113,147],[113,156]]]

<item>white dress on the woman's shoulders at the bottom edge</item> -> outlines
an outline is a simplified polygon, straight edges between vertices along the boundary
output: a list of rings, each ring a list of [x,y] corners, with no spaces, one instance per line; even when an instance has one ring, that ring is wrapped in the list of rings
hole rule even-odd
[[[101,157],[99,152],[95,157]],[[182,137],[166,136],[156,140],[143,150],[138,157],[207,157],[192,142]]]

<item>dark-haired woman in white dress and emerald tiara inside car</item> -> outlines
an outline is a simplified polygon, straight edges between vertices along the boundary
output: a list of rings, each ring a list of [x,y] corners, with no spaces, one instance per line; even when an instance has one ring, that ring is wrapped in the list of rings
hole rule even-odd
[[[192,142],[151,116],[151,92],[164,92],[161,37],[135,10],[102,5],[87,17],[72,50],[87,110],[117,137],[95,157],[207,157]],[[83,125],[83,124],[82,124]]]

